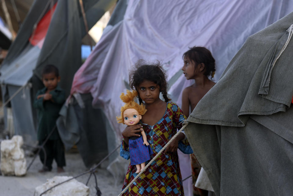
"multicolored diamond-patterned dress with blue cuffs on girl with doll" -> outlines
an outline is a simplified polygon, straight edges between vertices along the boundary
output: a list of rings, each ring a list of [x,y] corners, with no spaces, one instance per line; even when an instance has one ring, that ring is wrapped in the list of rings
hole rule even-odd
[[[182,127],[184,119],[182,110],[175,103],[168,102],[165,114],[157,124],[142,124],[154,152],[151,159],[176,134],[177,128],[179,130]],[[193,153],[187,140],[179,142],[178,148],[183,153]],[[124,140],[120,155],[129,159],[128,146]],[[135,172],[136,166],[129,164],[122,190],[136,177]],[[184,195],[177,152],[163,152],[123,195]]]

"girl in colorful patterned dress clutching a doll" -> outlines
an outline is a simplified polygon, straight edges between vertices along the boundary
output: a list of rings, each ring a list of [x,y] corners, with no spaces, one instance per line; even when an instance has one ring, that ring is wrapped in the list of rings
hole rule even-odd
[[[138,93],[139,103],[144,103],[147,112],[142,116],[140,124],[128,126],[122,131],[124,139],[120,155],[125,159],[129,159],[129,137],[140,137],[137,132],[144,130],[147,141],[154,152],[151,156],[152,159],[176,134],[177,129],[182,127],[182,122],[185,119],[182,110],[175,103],[169,102],[165,70],[159,63],[141,64],[140,61],[136,65],[136,69],[130,72],[129,81],[131,88]],[[164,101],[160,99],[160,93],[162,93]],[[184,195],[177,148],[183,153],[192,153],[183,132],[173,140],[123,195]],[[122,190],[136,175],[136,167],[129,164]]]

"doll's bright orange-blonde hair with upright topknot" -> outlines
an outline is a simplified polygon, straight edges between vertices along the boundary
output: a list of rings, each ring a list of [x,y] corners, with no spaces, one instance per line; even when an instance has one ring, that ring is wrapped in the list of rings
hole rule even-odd
[[[133,90],[132,92],[129,90],[126,90],[126,94],[121,93],[120,99],[125,103],[124,106],[121,107],[121,115],[116,117],[118,123],[123,123],[124,124],[124,118],[123,118],[123,113],[127,109],[135,109],[138,114],[143,115],[147,112],[146,107],[143,104],[138,104],[136,103],[133,98],[137,96],[136,90]]]

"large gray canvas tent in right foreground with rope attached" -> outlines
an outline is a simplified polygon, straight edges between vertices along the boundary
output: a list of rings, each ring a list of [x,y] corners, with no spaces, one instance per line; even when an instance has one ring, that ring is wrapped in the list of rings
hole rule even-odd
[[[293,192],[292,39],[278,58],[292,23],[293,12],[248,37],[187,119],[216,195]]]

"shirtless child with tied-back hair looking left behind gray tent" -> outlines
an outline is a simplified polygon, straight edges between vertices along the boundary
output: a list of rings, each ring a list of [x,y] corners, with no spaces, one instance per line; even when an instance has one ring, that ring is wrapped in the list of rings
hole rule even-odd
[[[188,118],[189,111],[192,112],[201,98],[215,85],[215,82],[208,78],[209,76],[211,76],[211,79],[214,77],[215,59],[207,48],[192,47],[183,54],[183,61],[182,70],[184,76],[187,80],[195,80],[193,85],[186,87],[182,92],[181,109]],[[193,184],[195,184],[201,165],[194,154],[191,154],[190,158],[192,180]],[[207,191],[197,188],[194,189],[194,195],[207,195]]]

